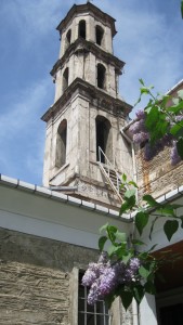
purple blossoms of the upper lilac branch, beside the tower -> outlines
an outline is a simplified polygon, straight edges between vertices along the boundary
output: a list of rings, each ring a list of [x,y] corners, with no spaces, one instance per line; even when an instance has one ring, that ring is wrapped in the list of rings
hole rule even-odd
[[[183,120],[183,115],[175,116],[175,121]],[[145,112],[140,109],[136,112],[136,120],[130,126],[130,132],[133,134],[134,143],[143,144],[144,146],[144,159],[151,160],[166,146],[171,146],[171,165],[174,166],[181,161],[181,157],[178,154],[177,141],[170,133],[166,133],[161,139],[157,140],[154,145],[149,142],[149,132],[145,127]]]

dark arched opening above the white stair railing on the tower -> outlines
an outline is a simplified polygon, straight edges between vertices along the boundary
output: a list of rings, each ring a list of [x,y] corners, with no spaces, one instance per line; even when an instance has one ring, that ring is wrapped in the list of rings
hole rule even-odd
[[[113,141],[112,141],[112,126],[108,119],[104,116],[97,116],[96,125],[96,161],[106,164],[105,156],[112,161],[113,157]]]

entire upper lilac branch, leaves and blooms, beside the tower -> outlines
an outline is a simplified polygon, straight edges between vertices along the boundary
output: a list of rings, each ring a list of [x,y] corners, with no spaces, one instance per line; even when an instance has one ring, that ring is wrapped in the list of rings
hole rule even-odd
[[[178,91],[177,98],[155,96],[154,87],[145,87],[142,79],[140,82],[138,103],[144,94],[149,95],[149,102],[144,110],[136,112],[136,119],[129,128],[133,141],[143,145],[145,160],[154,158],[166,146],[171,147],[171,165],[177,165],[183,159],[183,90]]]

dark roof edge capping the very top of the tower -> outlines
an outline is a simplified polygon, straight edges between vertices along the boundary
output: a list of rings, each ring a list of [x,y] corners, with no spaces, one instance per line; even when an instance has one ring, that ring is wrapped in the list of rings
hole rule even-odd
[[[104,24],[110,25],[113,37],[116,35],[117,32],[115,27],[116,20],[109,16],[108,14],[106,14],[105,12],[101,11],[97,6],[93,5],[90,2],[87,2],[84,4],[79,4],[79,5],[74,4],[71,9],[68,11],[65,18],[61,21],[56,29],[61,31],[67,26],[68,22],[71,21],[76,15],[83,14],[83,13],[89,13],[90,15],[97,17]]]

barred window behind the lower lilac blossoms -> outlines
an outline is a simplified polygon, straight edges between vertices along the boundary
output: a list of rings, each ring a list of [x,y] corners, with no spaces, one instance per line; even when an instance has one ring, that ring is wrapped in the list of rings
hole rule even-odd
[[[109,325],[109,310],[104,300],[99,300],[94,306],[87,302],[89,288],[81,285],[83,273],[79,273],[78,292],[78,324],[79,325]]]

